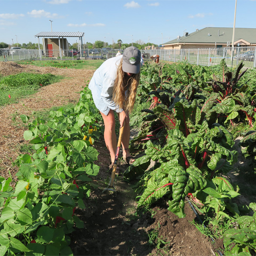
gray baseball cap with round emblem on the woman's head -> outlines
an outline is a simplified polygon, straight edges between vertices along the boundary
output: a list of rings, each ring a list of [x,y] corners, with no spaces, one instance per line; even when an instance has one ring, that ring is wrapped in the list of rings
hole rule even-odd
[[[138,74],[140,71],[140,50],[134,46],[127,47],[123,53],[123,71]]]

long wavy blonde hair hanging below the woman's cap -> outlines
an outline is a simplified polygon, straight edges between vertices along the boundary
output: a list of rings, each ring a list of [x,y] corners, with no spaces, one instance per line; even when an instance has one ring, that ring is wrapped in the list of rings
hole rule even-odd
[[[131,77],[125,75],[123,71],[123,59],[117,68],[117,77],[113,89],[113,101],[119,108],[131,113],[134,107],[136,92],[140,81],[140,72]],[[126,97],[125,97],[125,91]]]

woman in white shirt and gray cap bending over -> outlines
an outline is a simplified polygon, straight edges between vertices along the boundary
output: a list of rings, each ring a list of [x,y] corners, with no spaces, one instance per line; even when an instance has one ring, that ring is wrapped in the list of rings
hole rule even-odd
[[[123,55],[110,58],[102,63],[93,74],[89,84],[95,106],[103,117],[104,139],[111,158],[110,168],[115,161],[117,148],[114,111],[118,115],[120,127],[123,127],[125,122],[122,137],[123,157],[127,164],[131,165],[134,162],[129,152],[129,114],[133,109],[139,84],[140,61],[140,51],[134,46],[127,47]]]

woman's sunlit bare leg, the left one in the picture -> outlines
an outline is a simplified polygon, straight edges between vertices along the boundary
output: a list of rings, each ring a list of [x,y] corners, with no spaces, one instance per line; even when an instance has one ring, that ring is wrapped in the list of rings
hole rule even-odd
[[[105,125],[104,130],[104,139],[106,146],[109,150],[110,157],[111,157],[111,163],[114,163],[115,156],[116,156],[116,133],[115,133],[115,115],[114,110],[109,111],[108,115],[101,113]]]

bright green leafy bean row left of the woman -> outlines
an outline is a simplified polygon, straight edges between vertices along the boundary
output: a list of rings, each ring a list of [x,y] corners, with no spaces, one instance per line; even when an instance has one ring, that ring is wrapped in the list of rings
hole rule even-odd
[[[92,147],[100,134],[98,111],[87,90],[74,108],[50,111],[47,119],[21,115],[29,125],[24,138],[36,153],[16,160],[14,188],[12,177],[0,177],[0,255],[73,255],[69,234],[74,225],[84,227],[76,207],[85,208],[91,177],[99,172]]]

